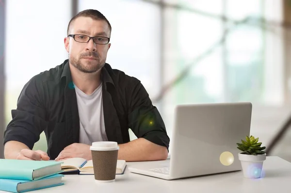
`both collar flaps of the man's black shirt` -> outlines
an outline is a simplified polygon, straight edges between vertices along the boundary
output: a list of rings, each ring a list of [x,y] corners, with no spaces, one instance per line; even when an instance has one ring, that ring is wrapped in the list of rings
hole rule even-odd
[[[108,63],[105,63],[105,65],[101,69],[102,82],[103,83],[111,83],[115,87],[110,73],[113,74],[113,70]],[[63,63],[63,72],[61,75],[61,79],[63,79],[63,77],[66,77],[67,84],[70,84],[70,82],[72,82],[71,71],[70,71],[68,59],[66,59]],[[105,87],[106,87],[106,84],[105,84]]]

